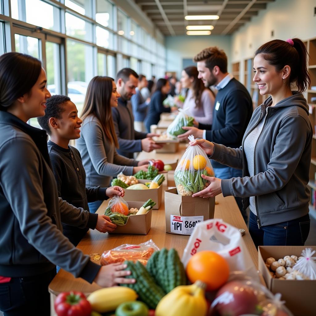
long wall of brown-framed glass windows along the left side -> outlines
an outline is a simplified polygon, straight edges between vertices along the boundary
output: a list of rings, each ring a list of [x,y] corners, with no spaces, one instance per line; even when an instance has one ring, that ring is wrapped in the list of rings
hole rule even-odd
[[[48,90],[68,93],[79,112],[96,75],[115,78],[122,67],[142,70],[147,77],[163,74],[166,54],[160,32],[152,36],[142,21],[124,11],[124,1],[119,2],[122,8],[113,2],[0,0],[0,55],[16,51],[40,59]],[[38,126],[36,119],[30,123]]]

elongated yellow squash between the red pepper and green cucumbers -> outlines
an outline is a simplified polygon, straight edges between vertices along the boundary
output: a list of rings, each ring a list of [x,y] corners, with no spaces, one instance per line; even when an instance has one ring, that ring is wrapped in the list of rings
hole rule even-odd
[[[125,286],[113,286],[96,290],[88,296],[92,310],[99,313],[114,311],[120,304],[136,301],[137,293]]]

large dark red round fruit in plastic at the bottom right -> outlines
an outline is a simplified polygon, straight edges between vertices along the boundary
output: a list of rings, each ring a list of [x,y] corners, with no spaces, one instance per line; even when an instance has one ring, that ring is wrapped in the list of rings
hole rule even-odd
[[[212,306],[221,316],[239,316],[255,314],[257,304],[258,298],[252,286],[232,281],[217,292]]]

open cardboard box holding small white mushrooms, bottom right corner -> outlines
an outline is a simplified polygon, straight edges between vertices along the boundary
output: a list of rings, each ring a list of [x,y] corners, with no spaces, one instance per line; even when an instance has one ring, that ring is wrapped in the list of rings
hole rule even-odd
[[[281,300],[286,307],[296,316],[315,316],[316,280],[278,280],[272,278],[270,270],[265,265],[265,260],[273,257],[276,260],[285,256],[301,256],[302,250],[307,247],[316,250],[316,246],[259,246],[258,266],[264,277],[267,287],[272,293],[281,293]]]

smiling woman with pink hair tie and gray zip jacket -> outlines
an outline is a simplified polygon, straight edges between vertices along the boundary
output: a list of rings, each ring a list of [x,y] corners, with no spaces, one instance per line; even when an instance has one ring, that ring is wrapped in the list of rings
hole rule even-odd
[[[237,149],[198,140],[222,164],[243,170],[241,178],[204,177],[210,185],[193,195],[243,197],[256,246],[304,245],[310,227],[309,166],[313,128],[302,95],[310,82],[307,52],[299,39],[273,40],[255,52],[253,81],[271,96],[256,108]],[[291,91],[294,83],[298,91]]]

